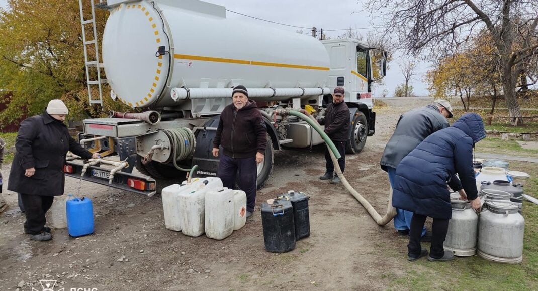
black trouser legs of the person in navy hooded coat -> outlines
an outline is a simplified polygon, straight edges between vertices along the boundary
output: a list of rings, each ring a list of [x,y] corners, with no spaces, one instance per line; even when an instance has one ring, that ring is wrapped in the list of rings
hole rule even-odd
[[[417,257],[420,255],[420,238],[426,217],[426,215],[413,214],[411,229],[409,231],[409,244],[407,245],[409,256]],[[430,257],[434,259],[440,259],[444,256],[443,243],[444,239],[447,238],[448,221],[448,219],[434,218],[434,222],[431,225]]]

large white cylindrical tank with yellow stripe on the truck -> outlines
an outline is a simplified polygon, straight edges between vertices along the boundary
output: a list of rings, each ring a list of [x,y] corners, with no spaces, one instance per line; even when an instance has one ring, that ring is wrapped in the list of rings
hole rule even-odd
[[[327,49],[309,35],[226,18],[224,6],[196,0],[108,4],[104,70],[112,98],[131,107],[230,97],[238,84],[256,101],[329,93]]]

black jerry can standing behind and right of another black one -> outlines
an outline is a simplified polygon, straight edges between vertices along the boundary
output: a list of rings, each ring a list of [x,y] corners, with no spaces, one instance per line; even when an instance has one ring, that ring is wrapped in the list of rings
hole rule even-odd
[[[282,194],[278,199],[292,202],[295,239],[299,241],[299,239],[309,236],[310,214],[308,212],[308,196],[305,193],[290,190],[287,194]]]

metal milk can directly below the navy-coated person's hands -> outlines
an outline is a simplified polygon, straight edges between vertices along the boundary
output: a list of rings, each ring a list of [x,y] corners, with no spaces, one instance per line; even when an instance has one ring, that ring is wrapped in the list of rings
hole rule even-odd
[[[454,256],[470,257],[476,253],[478,215],[467,200],[459,200],[459,195],[451,195],[452,219],[448,222],[444,249]]]

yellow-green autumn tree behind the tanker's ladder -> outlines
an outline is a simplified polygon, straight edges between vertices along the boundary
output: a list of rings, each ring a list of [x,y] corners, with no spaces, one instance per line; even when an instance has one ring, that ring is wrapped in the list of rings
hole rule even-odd
[[[89,1],[84,1],[89,11]],[[96,10],[98,40],[108,12]],[[93,35],[87,36],[93,39]],[[94,58],[92,49],[89,57]],[[77,1],[9,0],[0,8],[0,88],[12,92],[0,112],[0,124],[23,114],[36,115],[51,99],[62,99],[70,119],[103,116],[101,107],[89,105],[80,10]],[[110,89],[108,89],[110,90]],[[105,86],[104,92],[108,92]],[[104,93],[106,96],[106,93]],[[104,112],[127,111],[104,98]]]

